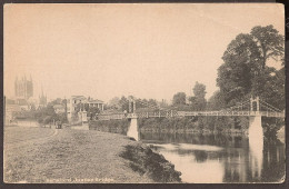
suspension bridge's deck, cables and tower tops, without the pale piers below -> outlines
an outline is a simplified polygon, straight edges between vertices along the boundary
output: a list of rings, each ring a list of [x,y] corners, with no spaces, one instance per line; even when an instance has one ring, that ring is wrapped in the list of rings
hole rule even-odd
[[[149,108],[153,111],[137,111],[137,103]],[[171,109],[161,110],[160,107],[149,102],[142,102],[138,99],[130,98],[128,100],[129,111],[121,113],[102,113],[98,115],[98,120],[113,119],[138,119],[138,118],[173,118],[173,117],[275,117],[285,118],[285,111],[269,105],[259,97],[250,98],[243,102],[239,102],[230,108],[213,111],[176,111]]]

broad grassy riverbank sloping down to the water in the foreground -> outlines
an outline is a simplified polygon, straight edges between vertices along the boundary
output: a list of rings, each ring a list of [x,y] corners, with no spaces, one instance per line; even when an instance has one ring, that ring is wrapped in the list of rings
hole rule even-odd
[[[13,132],[6,130],[6,136],[14,136],[16,132],[21,136],[22,129],[18,127]],[[28,133],[33,132],[31,129]],[[9,142],[12,140],[8,138],[4,142],[4,182],[180,181],[179,172],[162,156],[126,136],[60,129],[57,135],[48,136],[44,140],[28,139],[26,143],[21,142],[21,148],[17,141]],[[156,178],[149,163],[158,165],[163,177]],[[136,167],[139,169],[133,169]]]

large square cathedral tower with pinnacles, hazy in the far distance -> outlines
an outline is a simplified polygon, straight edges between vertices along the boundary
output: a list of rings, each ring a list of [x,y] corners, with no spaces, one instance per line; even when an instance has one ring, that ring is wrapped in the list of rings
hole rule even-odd
[[[26,78],[26,76],[20,80],[16,78],[14,92],[17,98],[22,98],[26,100],[30,97],[33,97],[33,81],[31,76],[29,80]]]

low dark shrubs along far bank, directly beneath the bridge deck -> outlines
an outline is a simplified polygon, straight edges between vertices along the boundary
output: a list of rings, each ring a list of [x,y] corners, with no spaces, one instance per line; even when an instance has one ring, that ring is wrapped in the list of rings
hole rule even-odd
[[[129,120],[96,120],[89,122],[91,130],[126,135]],[[138,119],[141,131],[153,132],[246,132],[248,118],[236,117],[185,117]]]

